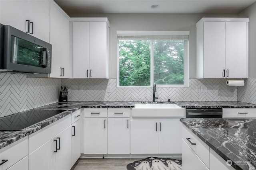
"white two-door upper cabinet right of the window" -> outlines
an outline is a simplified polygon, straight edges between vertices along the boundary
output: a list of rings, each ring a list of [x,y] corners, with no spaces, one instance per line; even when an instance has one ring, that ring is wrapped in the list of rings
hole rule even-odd
[[[248,78],[248,18],[196,23],[196,78]]]

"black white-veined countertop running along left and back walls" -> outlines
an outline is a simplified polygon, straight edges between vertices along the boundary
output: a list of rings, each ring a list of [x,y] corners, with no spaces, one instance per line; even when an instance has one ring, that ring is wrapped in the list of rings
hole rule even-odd
[[[136,103],[175,103],[184,108],[256,107],[243,102],[64,102],[35,108],[34,110],[63,110],[63,113],[41,121],[21,131],[0,131],[0,149],[30,135],[80,108],[131,108]]]

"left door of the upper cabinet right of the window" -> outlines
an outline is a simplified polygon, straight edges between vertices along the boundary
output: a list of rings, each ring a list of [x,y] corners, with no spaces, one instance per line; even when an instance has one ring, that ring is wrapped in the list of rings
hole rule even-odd
[[[203,24],[204,78],[223,78],[223,71],[225,71],[225,22],[204,22]]]

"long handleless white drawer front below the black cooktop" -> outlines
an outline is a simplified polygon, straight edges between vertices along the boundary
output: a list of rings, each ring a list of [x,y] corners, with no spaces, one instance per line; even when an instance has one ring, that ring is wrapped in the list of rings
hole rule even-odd
[[[71,125],[71,114],[63,117],[62,119],[48,125],[46,128],[40,129],[39,131],[32,133],[28,137],[28,154],[34,152],[55,135],[66,129]]]

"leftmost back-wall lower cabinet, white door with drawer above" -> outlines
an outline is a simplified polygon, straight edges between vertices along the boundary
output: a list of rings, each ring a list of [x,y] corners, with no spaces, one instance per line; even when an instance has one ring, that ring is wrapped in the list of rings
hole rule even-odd
[[[107,108],[84,109],[84,154],[107,153]]]

